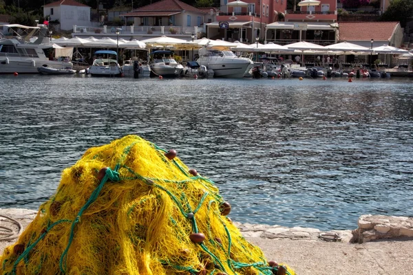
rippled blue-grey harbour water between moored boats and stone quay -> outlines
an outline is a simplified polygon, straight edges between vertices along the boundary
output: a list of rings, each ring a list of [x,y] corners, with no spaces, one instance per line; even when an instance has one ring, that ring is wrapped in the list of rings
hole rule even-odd
[[[218,185],[231,218],[330,229],[411,216],[413,81],[0,76],[0,208],[39,208],[91,146],[136,134]]]

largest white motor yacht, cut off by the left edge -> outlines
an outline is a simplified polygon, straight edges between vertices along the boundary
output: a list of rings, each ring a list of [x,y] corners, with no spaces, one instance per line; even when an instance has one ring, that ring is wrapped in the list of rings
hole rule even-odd
[[[30,34],[23,37],[15,32],[16,36],[10,39],[0,39],[0,74],[39,74],[38,67],[72,69],[73,64],[68,59],[54,61],[45,55],[45,49],[54,47],[50,43],[50,38],[45,35],[47,28],[19,24],[0,25],[0,27],[3,26],[10,28],[10,30],[19,28],[30,31]],[[30,38],[33,38],[34,34],[37,34],[38,38],[34,42],[30,42]]]

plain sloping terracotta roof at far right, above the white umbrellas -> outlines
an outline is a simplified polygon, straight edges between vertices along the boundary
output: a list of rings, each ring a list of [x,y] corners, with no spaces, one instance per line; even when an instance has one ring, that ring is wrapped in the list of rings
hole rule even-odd
[[[339,22],[339,41],[389,41],[399,22]]]

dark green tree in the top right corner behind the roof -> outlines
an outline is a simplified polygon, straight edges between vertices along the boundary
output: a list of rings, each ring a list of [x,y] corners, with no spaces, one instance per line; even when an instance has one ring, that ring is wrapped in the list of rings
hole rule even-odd
[[[407,21],[412,17],[412,0],[392,0],[388,9],[381,16],[381,21],[400,21],[401,28],[405,28]]]

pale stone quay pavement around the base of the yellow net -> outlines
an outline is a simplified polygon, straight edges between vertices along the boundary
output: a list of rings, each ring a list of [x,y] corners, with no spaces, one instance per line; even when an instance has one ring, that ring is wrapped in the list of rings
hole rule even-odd
[[[15,223],[1,215],[16,219],[25,228],[36,214],[27,209],[0,209],[0,233],[1,226],[18,230]],[[320,232],[315,228],[234,223],[248,241],[262,249],[268,261],[285,263],[298,275],[413,274],[412,238],[350,243],[351,230]],[[319,238],[320,234],[337,234],[341,240],[324,241]],[[2,236],[0,234],[0,254],[16,241],[1,241]]]

